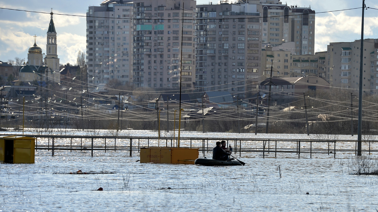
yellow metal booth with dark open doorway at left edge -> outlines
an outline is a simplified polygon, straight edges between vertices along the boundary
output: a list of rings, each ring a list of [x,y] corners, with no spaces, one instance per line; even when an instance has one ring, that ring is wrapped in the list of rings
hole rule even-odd
[[[17,135],[0,139],[0,160],[5,163],[34,163],[35,138]]]

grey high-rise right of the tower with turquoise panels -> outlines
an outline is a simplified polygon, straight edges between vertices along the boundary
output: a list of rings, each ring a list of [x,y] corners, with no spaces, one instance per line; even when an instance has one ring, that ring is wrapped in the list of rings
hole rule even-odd
[[[256,91],[260,71],[259,1],[197,5],[195,55],[198,91]],[[248,95],[248,94],[247,94]]]

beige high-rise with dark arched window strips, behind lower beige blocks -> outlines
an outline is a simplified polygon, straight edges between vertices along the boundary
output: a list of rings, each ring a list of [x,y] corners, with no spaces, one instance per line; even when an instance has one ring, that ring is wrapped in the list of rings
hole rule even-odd
[[[294,54],[314,54],[315,11],[282,5],[280,0],[261,0],[262,42],[272,46],[295,43]]]

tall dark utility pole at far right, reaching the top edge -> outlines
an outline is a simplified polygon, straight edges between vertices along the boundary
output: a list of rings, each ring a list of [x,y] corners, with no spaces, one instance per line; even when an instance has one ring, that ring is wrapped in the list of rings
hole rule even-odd
[[[361,131],[362,131],[362,78],[363,78],[363,54],[364,54],[364,12],[365,0],[362,0],[362,21],[361,21],[361,53],[359,61],[359,95],[358,95],[358,138],[357,138],[357,156],[361,156]]]

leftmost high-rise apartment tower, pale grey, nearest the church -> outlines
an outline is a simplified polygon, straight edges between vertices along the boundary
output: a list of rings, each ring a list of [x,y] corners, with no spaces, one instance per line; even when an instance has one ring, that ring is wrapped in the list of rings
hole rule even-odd
[[[132,82],[133,4],[106,0],[87,12],[88,84]]]

